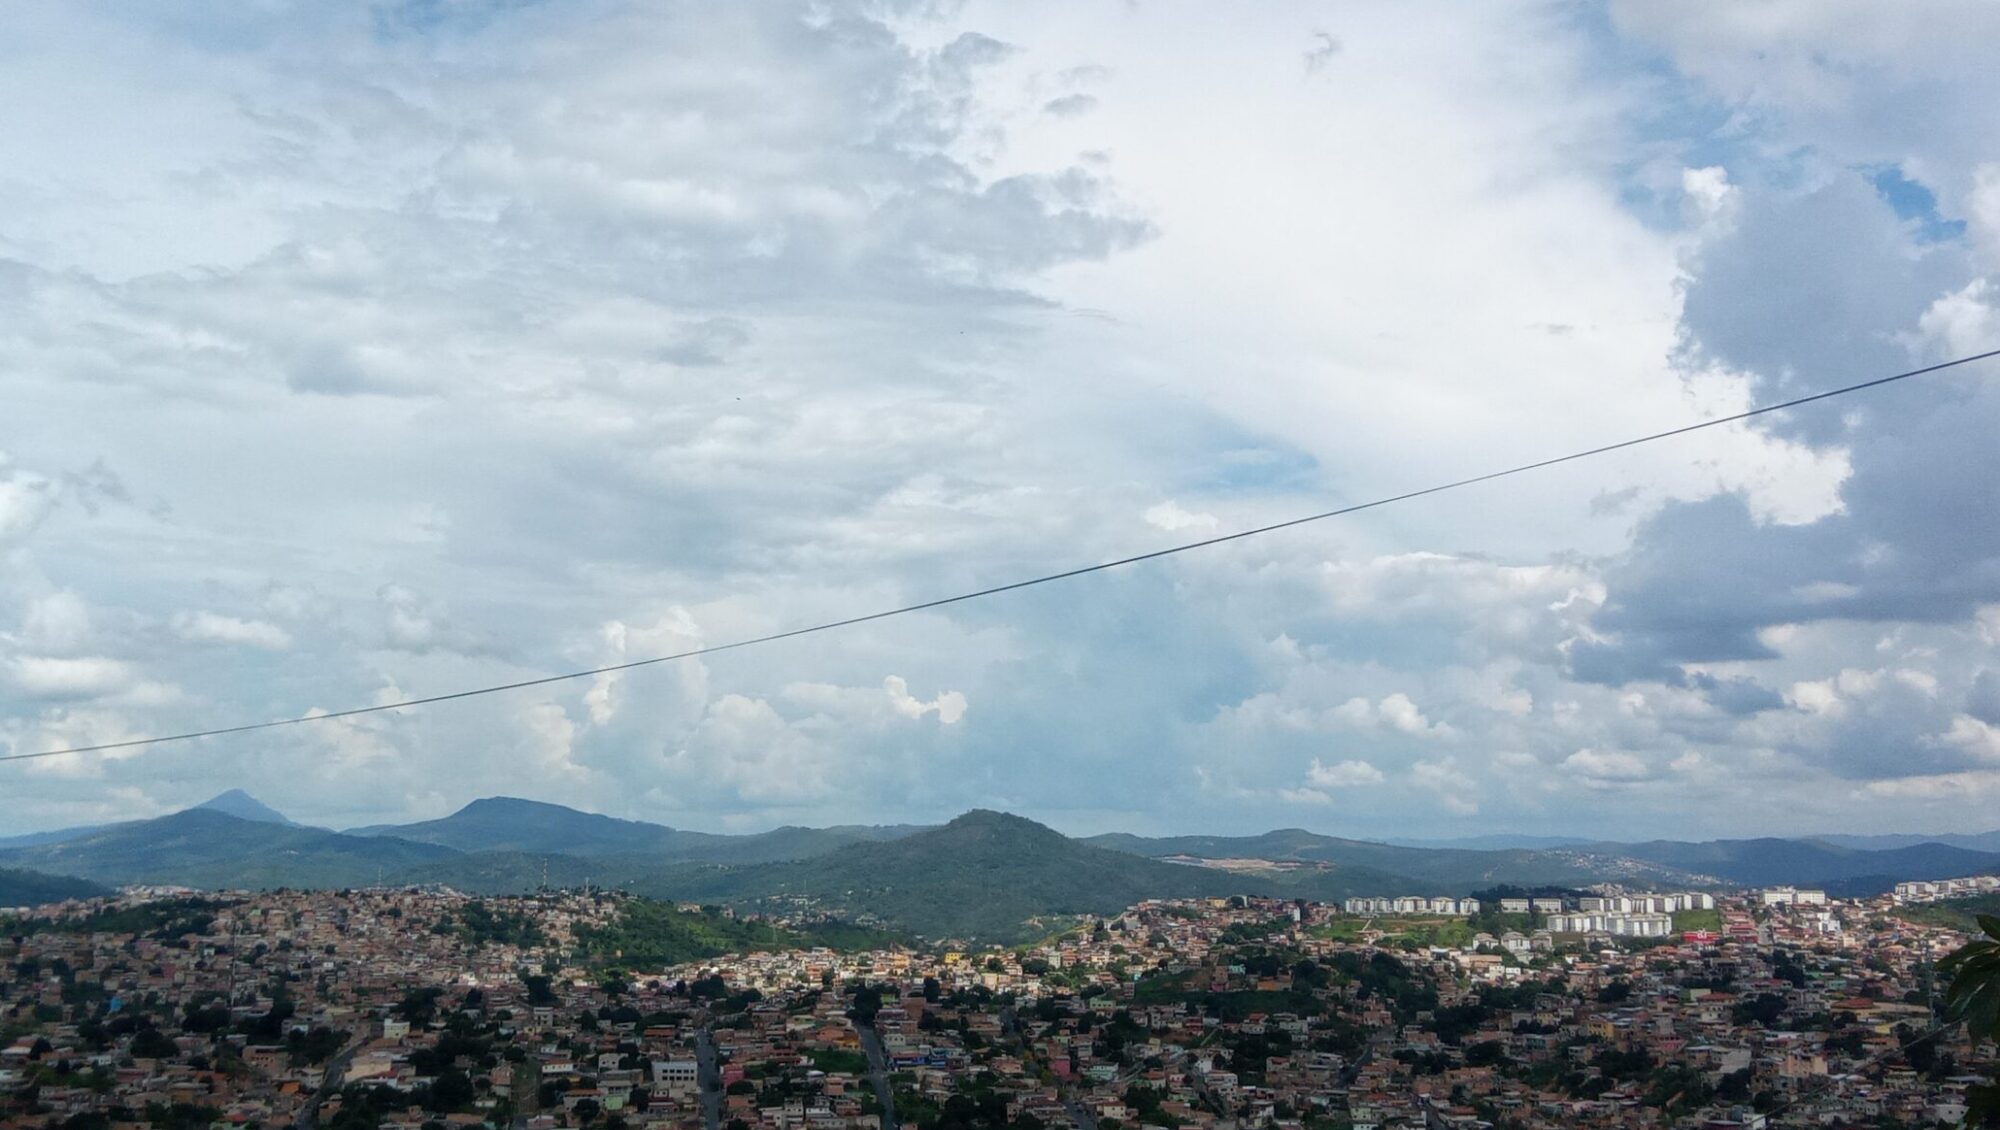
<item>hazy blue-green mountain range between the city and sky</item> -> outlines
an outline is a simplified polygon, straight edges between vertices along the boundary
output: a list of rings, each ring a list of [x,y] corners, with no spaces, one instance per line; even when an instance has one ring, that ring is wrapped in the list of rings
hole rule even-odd
[[[2000,840],[2000,834],[1994,834]],[[1512,886],[1826,886],[1870,894],[1906,878],[2000,872],[2000,852],[1944,842],[1814,840],[1404,846],[1298,828],[1260,836],[1070,838],[1002,812],[944,826],[774,828],[726,836],[520,798],[440,820],[334,832],[240,790],[156,820],[0,840],[6,890],[92,884],[198,888],[446,884],[480,894],[596,884],[658,898],[812,906],[924,936],[1008,938],[1038,918],[1106,914],[1140,898],[1464,894]],[[1980,836],[1956,840],[1984,842]],[[1228,870],[1192,866],[1232,860]],[[78,882],[82,886],[78,886]],[[68,884],[68,886],[64,886]]]

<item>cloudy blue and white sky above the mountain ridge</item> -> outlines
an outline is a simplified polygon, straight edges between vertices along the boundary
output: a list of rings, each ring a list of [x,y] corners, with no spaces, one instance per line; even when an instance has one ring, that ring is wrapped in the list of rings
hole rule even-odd
[[[0,752],[722,644],[2000,346],[1984,0],[0,8]],[[0,764],[682,828],[2000,798],[2000,362],[946,610]]]

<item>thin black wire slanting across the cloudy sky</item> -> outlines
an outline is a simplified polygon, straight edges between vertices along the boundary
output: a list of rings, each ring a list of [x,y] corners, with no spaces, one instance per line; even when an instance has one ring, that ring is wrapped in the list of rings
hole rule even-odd
[[[1390,506],[1390,504],[1396,504],[1396,502],[1408,502],[1412,498],[1424,498],[1426,494],[1442,494],[1446,490],[1458,490],[1462,486],[1476,486],[1480,482],[1492,482],[1496,478],[1508,478],[1508,476],[1524,474],[1524,472],[1530,472],[1530,470],[1542,470],[1542,468],[1548,468],[1548,466],[1576,462],[1576,460],[1586,460],[1586,458],[1592,458],[1592,456],[1602,456],[1602,454],[1618,452],[1618,450],[1624,450],[1624,448],[1636,448],[1640,444],[1652,444],[1652,442],[1658,442],[1658,440],[1670,440],[1674,436],[1686,436],[1688,432],[1700,432],[1704,428],[1720,428],[1722,424],[1736,424],[1740,420],[1750,420],[1754,416],[1764,416],[1768,412],[1782,412],[1786,408],[1798,408],[1802,404],[1814,404],[1818,400],[1832,400],[1834,396],[1848,396],[1852,392],[1864,392],[1868,388],[1880,388],[1884,384],[1894,384],[1898,380],[1908,380],[1912,376],[1924,376],[1924,374],[1940,372],[1940,370],[1946,370],[1946,368],[1958,368],[1962,364],[1972,364],[1972,362],[1988,360],[1988,358],[1994,358],[1994,356],[2000,356],[2000,350],[1986,350],[1982,354],[1970,354],[1970,356],[1962,356],[1962,358],[1948,360],[1948,362],[1928,364],[1924,368],[1912,368],[1912,370],[1890,374],[1890,376],[1878,376],[1874,380],[1864,380],[1860,384],[1848,384],[1848,386],[1832,388],[1832,390],[1826,390],[1826,392],[1814,392],[1812,396],[1798,396],[1798,398],[1792,398],[1792,400],[1780,400],[1778,404],[1764,404],[1762,408],[1750,408],[1748,412],[1736,412],[1732,416],[1716,416],[1714,420],[1702,420],[1698,424],[1684,424],[1680,428],[1668,428],[1666,432],[1652,432],[1650,436],[1638,436],[1638,438],[1632,438],[1632,440],[1620,440],[1616,444],[1604,444],[1604,446],[1598,446],[1598,448],[1586,448],[1586,450],[1580,450],[1580,452],[1570,452],[1566,456],[1554,456],[1554,458],[1546,458],[1546,460],[1526,462],[1526,464],[1520,464],[1520,466],[1510,466],[1506,470],[1492,470],[1492,472],[1476,474],[1476,476],[1470,476],[1470,478],[1458,478],[1458,480],[1452,480],[1452,482],[1440,482],[1436,486],[1426,486],[1422,490],[1406,490],[1402,494],[1390,494],[1388,498],[1376,498],[1372,502],[1356,502],[1354,506],[1340,506],[1336,510],[1322,510],[1318,514],[1306,514],[1304,518],[1288,518],[1284,522],[1272,522],[1268,526],[1254,526],[1250,530],[1236,530],[1234,534],[1218,534],[1214,538],[1202,538],[1198,542],[1184,542],[1180,546],[1168,546],[1164,550],[1152,550],[1152,552],[1144,552],[1144,554],[1132,554],[1128,558],[1098,562],[1098,564],[1092,564],[1092,566],[1072,568],[1072,570],[1064,570],[1064,572],[1050,572],[1050,574],[1034,576],[1034,578],[1028,578],[1028,580],[1016,580],[1016,582],[1010,582],[1010,584],[996,584],[992,588],[980,588],[980,590],[974,590],[974,592],[960,592],[958,596],[942,596],[938,600],[924,600],[920,604],[904,604],[902,608],[888,608],[884,612],[870,612],[866,616],[848,616],[846,620],[828,620],[824,624],[812,624],[808,628],[790,628],[786,632],[772,632],[768,636],[754,636],[754,638],[748,638],[748,640],[734,640],[734,642],[728,642],[728,644],[712,644],[712,646],[706,646],[706,648],[692,648],[692,650],[686,650],[686,652],[674,652],[670,656],[652,656],[652,658],[644,658],[644,660],[630,660],[630,662],[610,664],[610,666],[600,666],[600,668],[572,670],[572,672],[548,674],[548,676],[540,676],[540,678],[524,678],[524,680],[518,680],[518,682],[502,682],[502,684],[494,684],[494,686],[478,686],[478,688],[472,688],[472,690],[454,690],[450,694],[428,694],[428,696],[422,696],[422,698],[402,698],[402,700],[396,700],[396,702],[378,702],[374,706],[352,706],[348,710],[330,710],[330,712],[320,712],[320,714],[300,714],[296,718],[274,718],[274,720],[268,720],[268,722],[246,722],[246,724],[240,724],[240,726],[216,726],[212,730],[190,730],[186,734],[160,734],[160,736],[152,736],[152,738],[128,738],[128,740],[122,740],[122,742],[100,742],[96,746],[70,746],[70,748],[62,748],[62,750],[36,750],[36,752],[28,752],[28,754],[0,754],[0,762],[26,762],[26,760],[34,760],[34,758],[58,758],[58,756],[64,756],[64,754],[102,754],[102,752],[108,752],[108,750],[132,750],[132,748],[138,748],[138,746],[158,746],[162,742],[188,742],[188,740],[194,740],[194,738],[220,738],[224,734],[248,734],[248,732],[254,732],[254,730],[276,730],[278,726],[302,726],[306,722],[330,722],[334,718],[354,718],[358,714],[380,714],[384,710],[404,710],[404,708],[410,708],[410,706],[430,706],[430,704],[436,704],[436,702],[454,702],[458,698],[478,698],[482,694],[500,694],[500,692],[506,692],[506,690],[526,690],[530,686],[550,686],[550,684],[556,684],[556,682],[570,682],[570,680],[578,680],[578,678],[592,678],[592,676],[600,676],[600,674],[614,674],[614,672],[622,672],[622,670],[634,670],[634,668],[654,666],[654,664],[668,664],[668,662],[676,662],[676,660],[692,660],[692,658],[698,658],[698,656],[714,656],[714,654],[720,654],[720,652],[734,652],[734,650],[740,650],[740,648],[754,648],[754,646],[760,646],[760,644],[776,644],[778,640],[792,640],[792,638],[798,638],[798,636],[812,636],[812,634],[818,634],[818,632],[832,632],[836,628],[852,628],[854,624],[868,624],[868,622],[874,622],[874,620],[888,620],[890,616],[906,616],[910,612],[926,612],[930,608],[944,608],[948,604],[964,604],[966,600],[980,600],[980,598],[986,598],[986,596],[998,596],[1002,592],[1014,592],[1018,588],[1034,588],[1038,584],[1050,584],[1050,582],[1056,582],[1056,580],[1070,580],[1074,576],[1086,576],[1086,574],[1092,574],[1092,572],[1104,572],[1104,570],[1112,570],[1112,568],[1120,568],[1120,566],[1128,566],[1128,564],[1150,562],[1150,560],[1156,560],[1156,558],[1184,554],[1188,550],[1202,550],[1202,548],[1208,548],[1208,546],[1220,546],[1224,542],[1240,542],[1244,538],[1256,538],[1260,534],[1272,534],[1276,530],[1290,530],[1292,526],[1304,526],[1308,522],[1324,522],[1326,518],[1340,518],[1340,516],[1346,516],[1346,514],[1360,514],[1362,510],[1376,510],[1380,506]]]

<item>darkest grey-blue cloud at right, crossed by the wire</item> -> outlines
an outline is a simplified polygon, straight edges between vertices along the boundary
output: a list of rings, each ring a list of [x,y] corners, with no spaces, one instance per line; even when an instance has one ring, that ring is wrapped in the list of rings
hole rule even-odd
[[[1910,366],[1924,310],[1966,284],[1964,250],[1918,244],[1858,174],[1770,196],[1754,194],[1738,228],[1700,256],[1692,348],[1758,372],[1768,396]],[[1938,624],[2000,600],[2000,484],[1976,470],[2000,434],[1990,368],[1776,426],[1846,448],[1842,510],[1782,526],[1758,522],[1740,496],[1664,506],[1606,568],[1594,626],[1610,638],[1572,648],[1578,678],[1674,680],[1678,664],[1774,658],[1758,640],[1774,624]]]

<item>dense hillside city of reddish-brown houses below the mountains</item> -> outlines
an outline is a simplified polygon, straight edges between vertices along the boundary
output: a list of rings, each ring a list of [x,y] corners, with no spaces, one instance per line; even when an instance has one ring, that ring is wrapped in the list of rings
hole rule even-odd
[[[1964,934],[1894,894],[1796,894],[1538,896],[1542,924],[1508,896],[1386,916],[1148,900],[1012,948],[644,968],[598,942],[642,910],[668,926],[732,912],[130,890],[4,926],[4,1124],[1956,1122],[1994,1062],[1938,1024],[1934,964]],[[1600,922],[1664,902],[1688,904],[1674,938]]]

